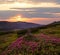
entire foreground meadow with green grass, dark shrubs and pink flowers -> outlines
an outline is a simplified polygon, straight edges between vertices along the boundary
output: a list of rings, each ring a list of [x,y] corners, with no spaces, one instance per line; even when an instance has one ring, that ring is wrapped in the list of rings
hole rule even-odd
[[[0,55],[59,55],[60,25],[0,32]]]

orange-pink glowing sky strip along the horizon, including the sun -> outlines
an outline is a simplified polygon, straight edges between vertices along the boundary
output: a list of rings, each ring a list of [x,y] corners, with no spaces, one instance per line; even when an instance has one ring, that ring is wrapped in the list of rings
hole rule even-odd
[[[22,21],[22,22],[31,22],[31,23],[37,23],[37,24],[47,24],[47,23],[51,23],[53,21],[59,21],[59,18],[24,18],[21,15],[17,15],[14,17],[11,17],[9,19],[7,19],[6,21],[9,22],[17,22],[17,21]]]

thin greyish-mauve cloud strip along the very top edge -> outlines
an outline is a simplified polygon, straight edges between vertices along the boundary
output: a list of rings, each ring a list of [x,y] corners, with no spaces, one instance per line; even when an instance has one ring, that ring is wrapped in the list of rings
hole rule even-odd
[[[47,3],[56,3],[56,4],[60,4],[60,0],[0,0],[0,2],[29,2],[29,3],[41,3],[41,2],[47,2]]]

